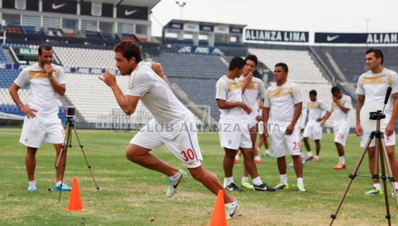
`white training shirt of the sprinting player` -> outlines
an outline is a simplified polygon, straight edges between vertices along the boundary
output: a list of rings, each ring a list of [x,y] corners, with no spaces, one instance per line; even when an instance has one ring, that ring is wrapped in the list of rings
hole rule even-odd
[[[183,121],[189,114],[166,82],[152,70],[150,62],[141,61],[132,71],[126,95],[141,97],[157,123],[173,124]]]

